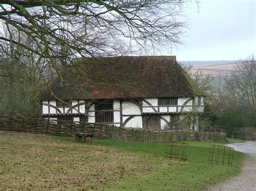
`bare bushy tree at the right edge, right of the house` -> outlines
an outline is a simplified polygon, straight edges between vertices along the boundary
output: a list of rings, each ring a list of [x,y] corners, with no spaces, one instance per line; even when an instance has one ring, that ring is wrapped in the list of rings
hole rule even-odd
[[[232,74],[214,79],[211,110],[217,124],[229,130],[256,125],[255,84],[256,71],[253,56],[236,63]]]

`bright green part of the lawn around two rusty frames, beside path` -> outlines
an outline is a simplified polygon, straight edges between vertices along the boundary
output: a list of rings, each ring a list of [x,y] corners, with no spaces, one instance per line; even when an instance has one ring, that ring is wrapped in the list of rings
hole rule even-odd
[[[96,143],[118,148],[122,152],[153,154],[162,159],[166,145],[166,143],[131,143],[117,140],[96,140]],[[100,188],[110,190],[140,190],[141,188],[145,190],[200,190],[239,174],[242,153],[234,152],[232,166],[209,165],[208,152],[211,145],[222,144],[191,141],[182,143],[189,143],[187,162],[176,162],[168,167],[138,174],[136,178],[126,178]]]

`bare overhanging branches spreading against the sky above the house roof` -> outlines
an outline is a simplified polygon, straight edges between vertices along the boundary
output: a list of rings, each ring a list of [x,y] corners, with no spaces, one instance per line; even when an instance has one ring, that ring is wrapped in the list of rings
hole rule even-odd
[[[79,57],[152,53],[180,43],[184,1],[0,1],[0,20],[25,33],[31,48],[19,39],[0,37],[56,63]]]

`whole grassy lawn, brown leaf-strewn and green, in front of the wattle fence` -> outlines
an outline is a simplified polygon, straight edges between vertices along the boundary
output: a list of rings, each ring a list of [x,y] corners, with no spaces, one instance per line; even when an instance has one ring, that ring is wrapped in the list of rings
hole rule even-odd
[[[240,172],[233,165],[208,165],[212,143],[189,143],[187,162],[164,158],[166,143],[131,143],[0,131],[0,190],[104,189],[200,190]]]

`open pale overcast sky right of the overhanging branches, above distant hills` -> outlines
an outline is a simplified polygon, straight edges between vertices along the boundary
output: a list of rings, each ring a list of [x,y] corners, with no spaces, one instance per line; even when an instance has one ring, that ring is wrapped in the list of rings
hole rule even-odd
[[[177,60],[239,60],[255,54],[255,0],[201,0],[188,4],[190,29],[184,46],[173,49]]]

